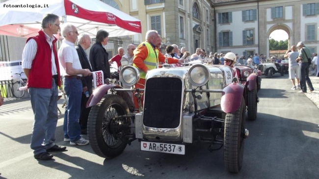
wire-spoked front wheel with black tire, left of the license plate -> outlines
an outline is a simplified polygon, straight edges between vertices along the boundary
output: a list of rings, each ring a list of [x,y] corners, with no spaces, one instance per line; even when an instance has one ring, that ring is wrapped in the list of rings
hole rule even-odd
[[[129,113],[128,105],[116,94],[106,94],[101,101],[91,108],[87,134],[93,151],[100,157],[113,158],[119,156],[126,143],[114,138],[109,131],[109,123],[114,116]]]

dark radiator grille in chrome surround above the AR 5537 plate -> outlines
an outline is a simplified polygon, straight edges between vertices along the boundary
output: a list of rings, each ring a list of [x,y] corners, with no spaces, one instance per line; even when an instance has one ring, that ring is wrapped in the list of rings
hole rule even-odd
[[[153,128],[177,128],[181,118],[182,81],[150,78],[145,85],[143,124]]]

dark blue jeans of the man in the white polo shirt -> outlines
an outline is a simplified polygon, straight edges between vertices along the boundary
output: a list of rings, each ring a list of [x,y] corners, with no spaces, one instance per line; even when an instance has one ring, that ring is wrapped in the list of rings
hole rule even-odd
[[[81,137],[79,124],[82,82],[77,78],[65,78],[63,81],[66,97],[64,112],[63,132],[64,138],[70,138],[71,142],[78,141]]]

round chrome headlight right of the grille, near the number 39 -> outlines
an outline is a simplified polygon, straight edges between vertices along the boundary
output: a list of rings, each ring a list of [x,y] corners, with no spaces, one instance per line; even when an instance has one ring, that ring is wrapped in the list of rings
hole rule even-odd
[[[210,79],[210,70],[202,64],[195,64],[189,68],[188,80],[197,87],[205,85]]]

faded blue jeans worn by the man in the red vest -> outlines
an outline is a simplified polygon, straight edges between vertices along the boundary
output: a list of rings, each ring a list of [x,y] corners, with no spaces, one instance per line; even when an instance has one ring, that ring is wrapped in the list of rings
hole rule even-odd
[[[52,79],[52,88],[29,88],[34,113],[30,147],[34,155],[46,152],[55,145],[57,123],[57,86]]]

